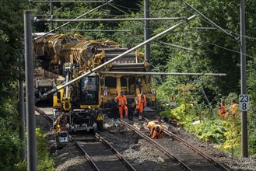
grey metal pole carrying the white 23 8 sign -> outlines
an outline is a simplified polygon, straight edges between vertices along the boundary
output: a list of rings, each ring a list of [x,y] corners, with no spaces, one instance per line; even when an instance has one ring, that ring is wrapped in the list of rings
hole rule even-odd
[[[246,40],[245,40],[245,0],[240,0],[240,75],[241,75],[241,95],[247,94],[246,91]],[[241,112],[242,126],[242,157],[248,157],[247,142],[247,111]]]

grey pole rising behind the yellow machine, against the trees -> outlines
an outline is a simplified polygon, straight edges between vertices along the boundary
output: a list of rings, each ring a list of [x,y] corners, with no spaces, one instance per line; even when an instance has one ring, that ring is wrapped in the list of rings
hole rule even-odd
[[[149,0],[144,0],[144,18],[147,19],[149,18]],[[149,20],[145,21],[145,26],[144,26],[144,41],[149,40]],[[145,44],[145,56],[146,56],[146,61],[150,61],[150,44]],[[149,71],[150,71],[150,66],[149,66]]]

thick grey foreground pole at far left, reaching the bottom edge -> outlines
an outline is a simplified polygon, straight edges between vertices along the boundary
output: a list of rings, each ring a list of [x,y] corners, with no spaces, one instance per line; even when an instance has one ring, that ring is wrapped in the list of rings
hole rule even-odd
[[[33,55],[31,12],[24,12],[25,70],[26,70],[26,131],[27,131],[27,170],[37,171],[37,143],[35,101],[33,87]]]

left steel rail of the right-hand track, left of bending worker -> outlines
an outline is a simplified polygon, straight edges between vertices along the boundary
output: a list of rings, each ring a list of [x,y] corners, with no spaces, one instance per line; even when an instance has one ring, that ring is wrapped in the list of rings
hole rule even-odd
[[[119,119],[120,120],[120,119]],[[148,136],[146,136],[145,134],[143,134],[142,132],[138,131],[137,129],[135,129],[134,127],[132,127],[132,125],[126,123],[124,120],[120,120],[122,124],[124,124],[126,127],[129,127],[132,131],[135,131],[137,134],[139,134],[139,136],[141,136],[142,138],[146,139],[147,141],[149,141],[150,143],[152,143],[153,145],[155,145],[157,148],[159,148],[165,155],[169,156],[171,159],[174,159],[175,162],[177,162],[178,164],[180,164],[182,167],[184,167],[184,169],[190,170],[192,171],[191,168],[189,168],[184,162],[181,162],[181,160],[177,159],[173,154],[171,154],[170,152],[168,152],[165,148],[163,148],[161,145],[159,145],[158,143],[156,143],[156,141],[154,141],[153,139],[149,138]]]

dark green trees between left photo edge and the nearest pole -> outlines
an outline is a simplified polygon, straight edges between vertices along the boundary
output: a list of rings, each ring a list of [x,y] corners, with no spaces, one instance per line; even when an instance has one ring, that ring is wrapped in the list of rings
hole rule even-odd
[[[19,114],[17,59],[23,55],[23,9],[25,3],[0,1],[0,169],[13,170],[19,162]]]

